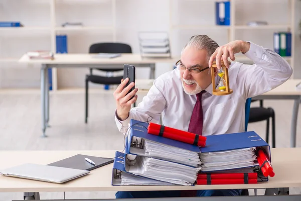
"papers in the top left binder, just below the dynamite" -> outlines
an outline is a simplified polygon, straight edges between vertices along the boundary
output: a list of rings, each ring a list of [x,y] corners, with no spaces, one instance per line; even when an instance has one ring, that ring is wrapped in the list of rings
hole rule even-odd
[[[135,140],[141,141],[140,138],[135,138]],[[133,149],[132,153],[138,154],[140,156],[154,157],[162,160],[182,163],[193,167],[199,167],[201,165],[200,156],[197,152],[154,142],[147,139],[144,139],[142,143],[144,143],[142,145],[143,149]]]

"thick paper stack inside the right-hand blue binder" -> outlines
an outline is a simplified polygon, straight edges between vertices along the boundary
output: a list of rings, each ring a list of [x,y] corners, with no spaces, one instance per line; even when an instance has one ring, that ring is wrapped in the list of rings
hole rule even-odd
[[[202,171],[216,171],[258,165],[255,147],[201,154]]]

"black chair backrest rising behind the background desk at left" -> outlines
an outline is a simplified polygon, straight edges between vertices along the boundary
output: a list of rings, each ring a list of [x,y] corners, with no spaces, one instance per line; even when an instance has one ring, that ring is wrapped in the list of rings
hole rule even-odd
[[[90,46],[89,53],[132,53],[132,50],[124,43],[94,43]]]

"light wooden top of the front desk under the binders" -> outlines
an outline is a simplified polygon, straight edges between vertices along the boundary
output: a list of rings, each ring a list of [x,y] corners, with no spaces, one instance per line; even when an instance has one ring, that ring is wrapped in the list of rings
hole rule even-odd
[[[0,169],[23,163],[49,164],[76,154],[114,157],[115,151],[0,151]],[[185,190],[301,187],[301,148],[271,149],[275,176],[268,182],[239,185],[195,186],[112,186],[112,166],[92,170],[88,175],[64,184],[34,181],[0,175],[0,192],[62,192],[62,191],[117,191],[117,190]]]

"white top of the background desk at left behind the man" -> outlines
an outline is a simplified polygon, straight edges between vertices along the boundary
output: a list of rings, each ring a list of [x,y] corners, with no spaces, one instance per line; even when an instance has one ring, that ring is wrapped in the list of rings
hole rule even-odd
[[[95,54],[55,54],[54,59],[29,59],[24,54],[21,63],[43,64],[149,64],[149,63],[176,63],[179,58],[142,58],[139,54],[121,54],[115,58],[92,58]]]

